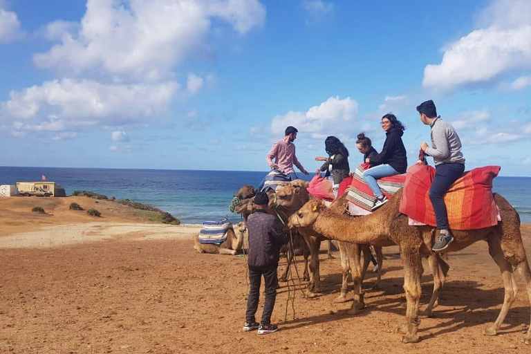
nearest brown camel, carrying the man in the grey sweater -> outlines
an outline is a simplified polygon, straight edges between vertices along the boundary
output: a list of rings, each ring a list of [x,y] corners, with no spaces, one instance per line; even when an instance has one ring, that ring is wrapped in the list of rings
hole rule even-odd
[[[373,214],[357,218],[333,214],[319,201],[309,201],[290,217],[289,225],[310,227],[326,238],[337,241],[379,246],[393,243],[400,245],[407,310],[405,324],[398,328],[398,332],[404,335],[403,343],[413,343],[420,342],[417,333],[420,324],[418,319],[420,277],[424,272],[421,259],[422,256],[432,253],[431,247],[437,232],[429,225],[409,226],[407,216],[398,212],[401,198],[402,189]],[[531,271],[521,239],[519,214],[501,195],[494,194],[494,201],[500,209],[501,222],[479,230],[452,230],[454,242],[446,250],[446,252],[456,252],[483,240],[487,242],[489,253],[500,268],[505,297],[498,318],[485,330],[485,335],[498,333],[510,306],[516,299],[518,288],[513,267],[521,274],[531,303]],[[531,344],[531,326],[524,342]]]

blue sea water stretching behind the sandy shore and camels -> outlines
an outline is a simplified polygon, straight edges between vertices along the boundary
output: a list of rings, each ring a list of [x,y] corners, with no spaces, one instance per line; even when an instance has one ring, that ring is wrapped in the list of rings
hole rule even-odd
[[[0,167],[0,185],[40,180],[42,174],[66,189],[67,195],[89,190],[109,198],[129,198],[169,212],[186,224],[225,216],[239,221],[228,207],[232,196],[242,185],[257,187],[265,176],[265,172],[250,171]],[[523,223],[531,223],[531,178],[496,177],[494,192],[516,207]]]

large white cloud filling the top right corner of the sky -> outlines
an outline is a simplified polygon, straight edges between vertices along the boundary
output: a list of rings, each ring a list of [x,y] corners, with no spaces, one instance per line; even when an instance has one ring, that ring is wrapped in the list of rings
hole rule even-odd
[[[440,90],[492,84],[531,70],[531,1],[498,0],[481,14],[482,28],[445,48],[427,65],[422,85]]]

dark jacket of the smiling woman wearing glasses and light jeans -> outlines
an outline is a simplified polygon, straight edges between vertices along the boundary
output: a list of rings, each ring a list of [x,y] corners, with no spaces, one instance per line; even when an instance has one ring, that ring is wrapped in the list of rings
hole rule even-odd
[[[406,173],[407,170],[407,153],[402,135],[404,131],[400,129],[391,129],[386,132],[386,138],[382,152],[369,160],[371,167],[378,165],[391,165],[399,174]]]

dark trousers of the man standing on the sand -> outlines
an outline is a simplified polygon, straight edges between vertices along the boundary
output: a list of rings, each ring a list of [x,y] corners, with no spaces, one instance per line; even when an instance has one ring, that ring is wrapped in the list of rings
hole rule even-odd
[[[263,313],[260,323],[263,326],[271,324],[271,315],[274,308],[274,300],[277,299],[277,267],[269,269],[249,267],[250,290],[247,299],[247,313],[245,313],[245,322],[253,323],[256,321],[254,315],[257,313],[258,300],[260,296],[260,283],[263,276],[265,285],[265,301],[263,303]]]

